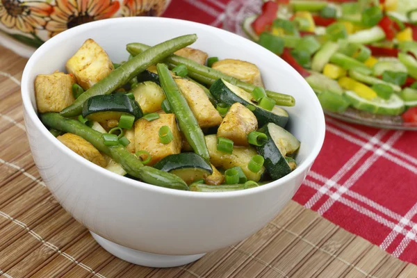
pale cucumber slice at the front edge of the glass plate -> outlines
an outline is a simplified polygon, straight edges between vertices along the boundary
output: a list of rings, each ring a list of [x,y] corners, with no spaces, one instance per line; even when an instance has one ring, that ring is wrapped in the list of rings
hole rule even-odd
[[[347,90],[345,96],[349,99],[350,104],[361,111],[368,111],[374,114],[382,115],[399,115],[404,111],[404,101],[393,94],[388,100],[375,97],[373,100],[359,97],[355,92]]]

